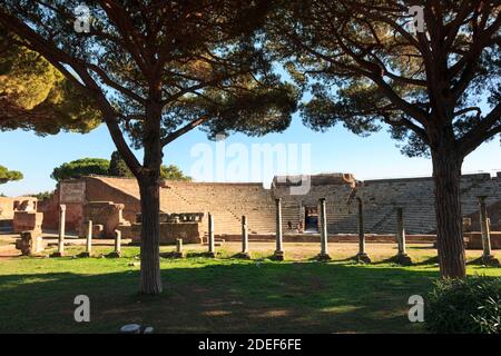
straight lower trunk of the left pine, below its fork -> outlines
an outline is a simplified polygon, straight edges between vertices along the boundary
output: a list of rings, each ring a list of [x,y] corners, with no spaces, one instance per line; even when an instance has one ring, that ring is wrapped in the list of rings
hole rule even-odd
[[[160,185],[157,179],[139,180],[141,198],[141,267],[140,291],[143,294],[160,294],[160,257],[159,257],[159,210]]]

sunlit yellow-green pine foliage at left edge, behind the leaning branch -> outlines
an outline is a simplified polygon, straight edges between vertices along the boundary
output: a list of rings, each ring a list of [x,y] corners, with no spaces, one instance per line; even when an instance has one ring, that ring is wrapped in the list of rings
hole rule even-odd
[[[100,122],[89,99],[37,52],[0,27],[0,130],[88,132]]]

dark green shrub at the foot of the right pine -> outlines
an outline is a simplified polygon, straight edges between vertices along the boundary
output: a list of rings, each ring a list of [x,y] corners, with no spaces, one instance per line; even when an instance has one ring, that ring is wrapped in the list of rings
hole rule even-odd
[[[500,334],[501,278],[436,281],[426,298],[425,325],[440,334]]]

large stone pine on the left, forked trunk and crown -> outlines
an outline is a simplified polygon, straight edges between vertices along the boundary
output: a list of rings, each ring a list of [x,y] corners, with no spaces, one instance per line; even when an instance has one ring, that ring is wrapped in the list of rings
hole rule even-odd
[[[4,0],[0,24],[96,102],[137,178],[140,290],[161,291],[163,147],[196,127],[210,136],[285,129],[296,93],[273,73],[259,29],[266,0]],[[78,18],[76,19],[76,14]],[[143,149],[143,162],[128,146]]]

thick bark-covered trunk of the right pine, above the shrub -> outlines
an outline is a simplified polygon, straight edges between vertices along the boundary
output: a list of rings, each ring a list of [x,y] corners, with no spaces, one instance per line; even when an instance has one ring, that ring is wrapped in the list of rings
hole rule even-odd
[[[436,241],[442,278],[464,278],[466,275],[460,179],[462,157],[458,157],[453,139],[443,135],[432,146],[435,185]]]

